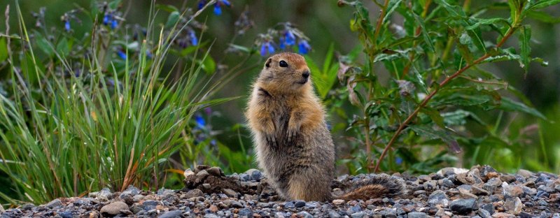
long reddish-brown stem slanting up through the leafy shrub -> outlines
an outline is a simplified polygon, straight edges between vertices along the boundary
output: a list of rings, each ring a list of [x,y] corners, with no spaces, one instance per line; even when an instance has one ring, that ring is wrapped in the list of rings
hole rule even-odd
[[[503,43],[505,43],[505,41],[507,41],[507,38],[510,38],[510,36],[512,36],[513,32],[514,32],[515,27],[510,27],[510,29],[507,30],[507,33],[505,34],[505,36],[503,36],[503,38],[500,40],[500,42],[496,45],[496,48],[500,48],[502,47]],[[414,110],[414,112],[412,112],[412,114],[410,114],[407,119],[405,119],[405,122],[402,122],[402,124],[400,124],[400,126],[398,126],[397,131],[395,132],[395,134],[393,135],[393,137],[391,138],[391,140],[389,140],[389,143],[387,143],[387,145],[385,146],[385,149],[383,150],[383,152],[381,152],[381,155],[379,156],[379,159],[377,159],[377,163],[375,164],[375,168],[373,170],[374,173],[377,172],[377,170],[379,170],[379,166],[381,165],[381,161],[383,161],[383,158],[385,157],[385,154],[387,153],[387,151],[389,150],[389,148],[391,147],[391,145],[393,145],[395,143],[395,141],[397,140],[398,136],[400,135],[400,132],[405,129],[405,126],[412,121],[412,119],[414,119],[414,117],[416,117],[416,115],[418,114],[418,112],[420,112],[420,110],[426,106],[426,104],[428,103],[428,101],[430,101],[430,99],[432,99],[432,97],[437,93],[437,91],[440,90],[441,87],[443,87],[444,85],[447,85],[447,83],[449,83],[449,81],[453,80],[454,78],[456,78],[458,75],[461,75],[461,73],[465,72],[468,68],[470,68],[471,66],[475,66],[477,64],[479,64],[480,62],[484,61],[485,59],[491,57],[492,54],[486,53],[484,54],[482,57],[479,57],[478,59],[476,59],[475,61],[472,61],[472,63],[467,64],[466,66],[464,66],[463,68],[459,69],[458,71],[456,71],[455,73],[453,73],[453,75],[449,76],[448,78],[445,78],[445,80],[443,80],[439,87],[437,87],[435,90],[433,90],[432,92],[430,92],[430,94],[428,94],[428,96],[426,96],[426,99],[424,99],[420,105],[416,108],[416,110]]]

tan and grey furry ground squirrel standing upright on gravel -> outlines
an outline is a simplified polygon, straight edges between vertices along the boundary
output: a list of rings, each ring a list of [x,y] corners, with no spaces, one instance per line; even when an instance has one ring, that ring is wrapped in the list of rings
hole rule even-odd
[[[280,61],[288,66],[281,67]],[[305,72],[309,68],[299,54],[269,57],[253,85],[246,117],[258,164],[276,191],[288,201],[329,201],[335,145],[323,106]],[[386,193],[375,184],[354,190],[370,197]]]

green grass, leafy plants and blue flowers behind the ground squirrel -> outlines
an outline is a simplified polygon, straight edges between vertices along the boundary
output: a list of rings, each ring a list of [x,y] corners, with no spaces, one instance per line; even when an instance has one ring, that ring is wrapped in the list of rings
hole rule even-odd
[[[281,50],[306,55],[338,173],[559,173],[556,3],[3,1],[2,201],[254,168],[243,111]]]

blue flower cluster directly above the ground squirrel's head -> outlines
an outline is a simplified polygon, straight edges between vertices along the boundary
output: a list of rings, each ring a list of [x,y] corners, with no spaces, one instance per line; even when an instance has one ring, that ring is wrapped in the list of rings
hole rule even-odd
[[[260,47],[260,55],[266,56],[280,50],[293,50],[297,44],[297,52],[300,54],[308,54],[311,50],[309,39],[300,31],[293,27],[289,22],[280,24],[283,29],[269,29],[267,34],[260,34],[257,39],[257,45]],[[278,38],[278,45],[274,43],[274,38]]]

